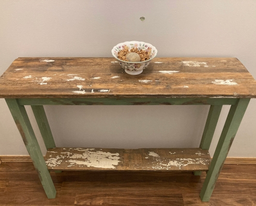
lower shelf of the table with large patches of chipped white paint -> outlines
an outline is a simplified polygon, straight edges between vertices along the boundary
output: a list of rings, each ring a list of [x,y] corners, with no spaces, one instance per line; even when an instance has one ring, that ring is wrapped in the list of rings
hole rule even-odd
[[[49,170],[179,170],[209,169],[210,155],[201,148],[62,148],[48,149]]]

